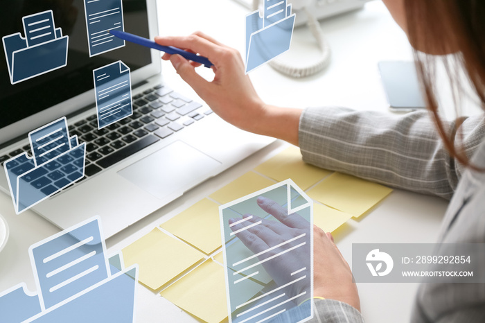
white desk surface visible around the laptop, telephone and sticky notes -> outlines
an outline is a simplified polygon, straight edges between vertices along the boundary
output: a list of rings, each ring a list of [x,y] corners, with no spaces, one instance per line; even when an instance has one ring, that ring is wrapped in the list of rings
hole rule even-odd
[[[159,0],[158,5],[159,27],[163,35],[186,35],[202,30],[244,52],[244,18],[248,10],[238,3],[231,0]],[[382,2],[373,1],[367,3],[364,10],[321,21],[321,28],[333,51],[330,67],[316,76],[300,80],[282,76],[270,67],[261,67],[251,73],[261,97],[267,103],[286,107],[340,105],[355,110],[386,112],[377,62],[411,60],[412,53],[404,33]],[[292,50],[287,58],[308,57],[311,60],[316,55],[317,48],[308,28],[295,29]],[[171,87],[195,97],[170,63],[164,62],[163,69],[164,78]],[[251,170],[284,145],[279,141],[273,143],[109,238],[106,241],[108,253],[121,250],[156,225]],[[439,198],[395,190],[367,216],[349,220],[335,237],[337,245],[351,263],[352,243],[431,243],[436,238],[447,204]],[[35,290],[28,247],[60,230],[33,211],[16,216],[10,197],[3,193],[0,193],[0,213],[10,227],[8,243],[0,252],[0,292],[20,282]],[[417,284],[360,283],[358,288],[367,322],[409,321]],[[197,320],[139,285],[136,322]]]

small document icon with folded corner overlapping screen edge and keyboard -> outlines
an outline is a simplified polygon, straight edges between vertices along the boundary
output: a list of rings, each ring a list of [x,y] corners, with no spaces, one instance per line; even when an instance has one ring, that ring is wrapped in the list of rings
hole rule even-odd
[[[121,60],[93,71],[98,128],[133,114],[130,67]]]

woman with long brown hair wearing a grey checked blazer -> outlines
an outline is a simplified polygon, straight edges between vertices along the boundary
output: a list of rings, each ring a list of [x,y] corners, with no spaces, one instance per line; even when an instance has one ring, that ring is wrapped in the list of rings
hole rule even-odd
[[[464,96],[459,71],[464,71],[465,81],[485,109],[485,1],[384,2],[415,49],[430,115],[392,116],[335,107],[281,109],[261,101],[234,49],[203,33],[156,41],[200,53],[213,62],[215,78],[207,82],[194,71],[196,63],[179,55],[163,57],[222,119],[298,145],[310,164],[451,198],[438,242],[485,243],[484,119],[442,121],[433,81],[434,63],[441,59],[459,109],[459,98]],[[440,56],[450,53],[451,58]],[[314,246],[314,295],[324,298],[315,299],[315,322],[362,322],[351,270],[333,238],[315,229]],[[422,284],[412,322],[485,322],[485,284]]]

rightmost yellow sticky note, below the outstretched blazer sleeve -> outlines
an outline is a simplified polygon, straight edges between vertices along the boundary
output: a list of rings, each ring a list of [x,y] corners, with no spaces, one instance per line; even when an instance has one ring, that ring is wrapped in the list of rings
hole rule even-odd
[[[366,213],[392,189],[377,183],[342,173],[333,173],[313,189],[310,198],[358,218]]]

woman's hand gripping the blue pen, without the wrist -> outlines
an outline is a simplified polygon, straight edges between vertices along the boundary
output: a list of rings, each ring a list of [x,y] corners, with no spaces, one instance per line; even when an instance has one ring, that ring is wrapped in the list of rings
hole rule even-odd
[[[257,123],[265,114],[264,103],[256,94],[249,77],[245,75],[243,60],[236,49],[224,46],[201,32],[184,37],[155,37],[155,42],[186,49],[209,58],[214,64],[212,69],[215,76],[212,82],[197,74],[195,67],[200,64],[189,62],[180,55],[162,56],[162,59],[172,62],[182,79],[222,119],[252,132],[261,127]]]

